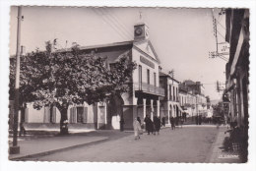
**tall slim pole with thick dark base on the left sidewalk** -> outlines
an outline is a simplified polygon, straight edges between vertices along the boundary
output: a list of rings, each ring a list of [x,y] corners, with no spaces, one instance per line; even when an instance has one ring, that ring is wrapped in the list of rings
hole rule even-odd
[[[22,7],[18,7],[17,47],[16,47],[16,70],[15,70],[15,99],[14,99],[14,124],[13,124],[13,146],[10,146],[9,153],[20,153],[18,146],[18,119],[19,119],[19,88],[20,88],[20,56],[21,56],[21,22]]]

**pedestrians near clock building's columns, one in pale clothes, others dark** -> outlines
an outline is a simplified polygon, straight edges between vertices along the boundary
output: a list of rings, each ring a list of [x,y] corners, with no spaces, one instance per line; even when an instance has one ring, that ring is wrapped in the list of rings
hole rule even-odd
[[[146,115],[146,118],[144,119],[145,122],[145,129],[148,135],[153,134],[153,135],[160,135],[160,117],[154,116],[153,121],[149,117],[149,115]],[[137,117],[134,119],[133,122],[133,128],[134,128],[134,136],[135,140],[140,139],[140,134],[142,134],[142,123],[140,117]]]

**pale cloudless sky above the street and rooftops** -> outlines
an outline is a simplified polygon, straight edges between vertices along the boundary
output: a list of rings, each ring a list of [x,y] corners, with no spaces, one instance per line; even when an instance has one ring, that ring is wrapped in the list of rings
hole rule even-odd
[[[186,8],[71,8],[23,7],[21,44],[27,52],[45,49],[45,41],[57,38],[58,48],[72,42],[82,46],[133,39],[133,27],[145,22],[150,39],[165,70],[174,70],[179,82],[201,82],[205,94],[220,99],[216,82],[225,82],[225,61],[209,58],[216,51],[213,15],[218,24],[218,41],[224,42],[224,15],[221,9]],[[10,54],[16,52],[17,7],[11,8]],[[140,18],[141,16],[141,18]],[[67,43],[66,43],[67,42]],[[219,46],[222,48],[222,46]]]

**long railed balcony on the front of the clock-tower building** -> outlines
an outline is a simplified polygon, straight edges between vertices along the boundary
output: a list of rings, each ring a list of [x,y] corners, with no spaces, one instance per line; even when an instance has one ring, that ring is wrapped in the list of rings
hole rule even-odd
[[[134,83],[134,90],[164,96],[164,89],[155,85]]]

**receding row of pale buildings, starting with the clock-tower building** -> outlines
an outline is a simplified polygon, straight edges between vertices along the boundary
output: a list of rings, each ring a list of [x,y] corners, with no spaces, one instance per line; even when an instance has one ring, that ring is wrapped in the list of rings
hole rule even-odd
[[[68,50],[68,49],[66,49]],[[118,43],[81,47],[83,53],[96,53],[106,57],[107,64],[115,63],[126,54],[137,64],[131,78],[131,92],[122,94],[113,101],[97,102],[89,105],[70,106],[68,110],[69,127],[92,129],[132,129],[135,117],[144,119],[146,115],[165,117],[211,116],[207,108],[204,86],[200,82],[174,79],[169,72],[160,67],[160,57],[149,39],[149,28],[144,23],[134,26],[134,40]],[[60,113],[54,106],[41,110],[28,104],[20,121],[27,127],[58,127]],[[209,115],[210,113],[210,115]]]

